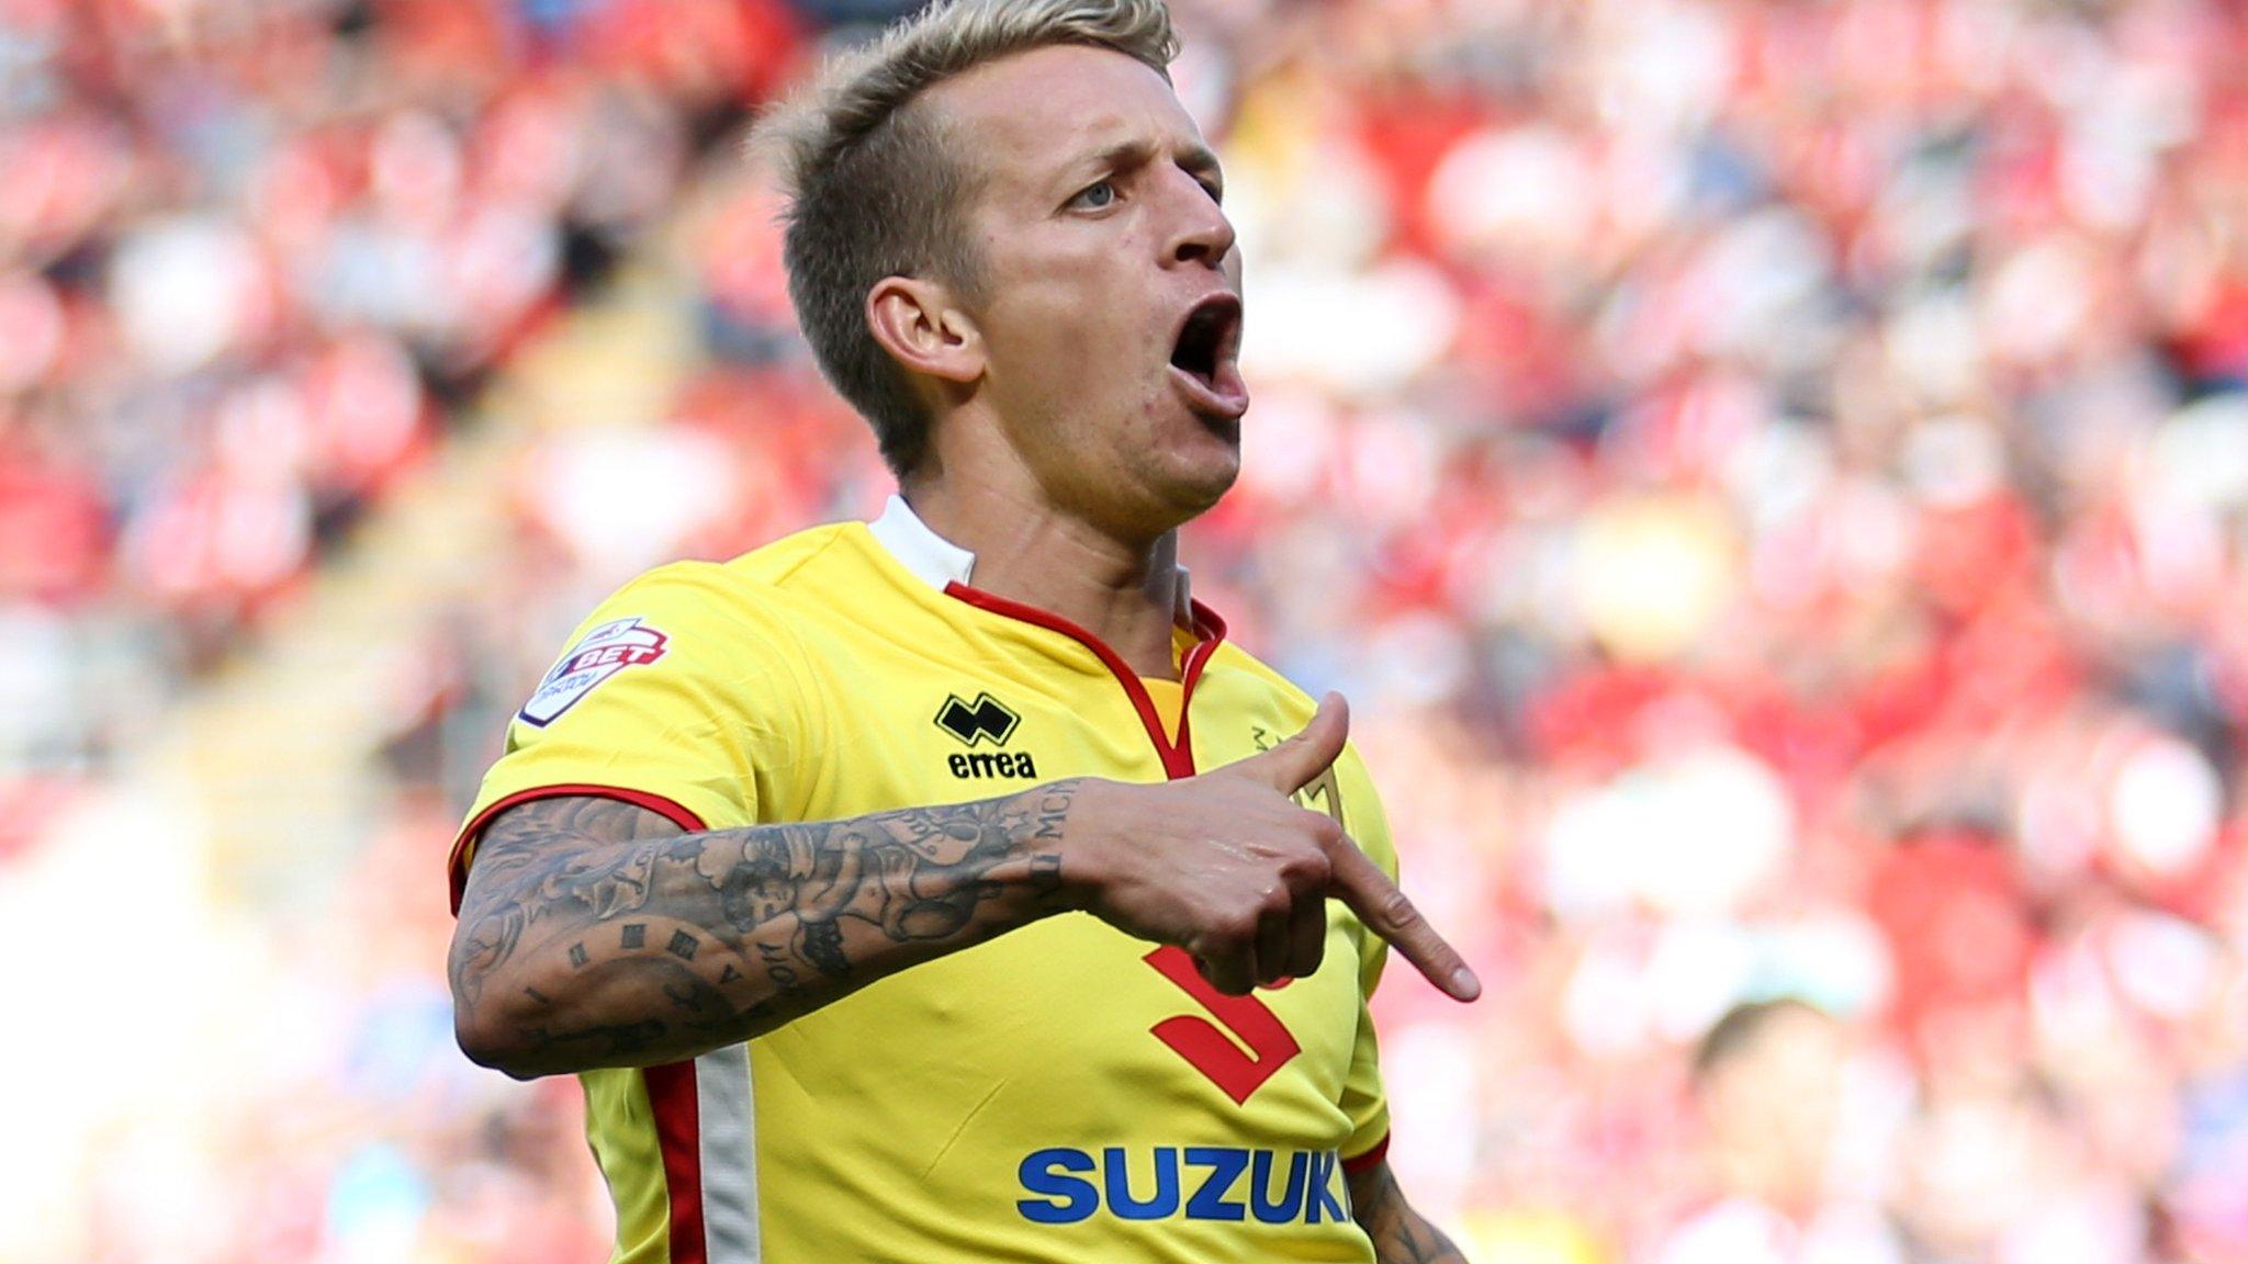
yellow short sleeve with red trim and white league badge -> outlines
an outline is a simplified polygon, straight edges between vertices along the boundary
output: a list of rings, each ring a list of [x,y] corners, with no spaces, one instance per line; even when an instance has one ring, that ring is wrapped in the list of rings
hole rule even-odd
[[[477,837],[533,798],[636,803],[681,830],[758,821],[758,771],[794,762],[789,648],[708,562],[650,571],[587,616],[508,722],[450,859],[459,909]]]

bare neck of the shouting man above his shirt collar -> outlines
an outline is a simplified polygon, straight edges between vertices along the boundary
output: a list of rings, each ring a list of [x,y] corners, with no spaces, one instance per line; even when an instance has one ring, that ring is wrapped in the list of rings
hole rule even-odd
[[[1117,540],[1084,517],[1003,488],[937,479],[904,488],[931,531],[976,553],[976,587],[1093,632],[1144,677],[1176,679],[1178,535]]]

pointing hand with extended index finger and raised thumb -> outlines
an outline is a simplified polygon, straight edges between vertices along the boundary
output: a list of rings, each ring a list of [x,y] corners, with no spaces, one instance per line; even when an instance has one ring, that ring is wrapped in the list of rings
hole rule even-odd
[[[1178,945],[1221,992],[1302,978],[1326,949],[1326,900],[1358,913],[1457,1001],[1481,983],[1342,825],[1288,796],[1342,756],[1349,708],[1326,695],[1302,733],[1162,785],[1079,783],[1063,882],[1104,922]]]

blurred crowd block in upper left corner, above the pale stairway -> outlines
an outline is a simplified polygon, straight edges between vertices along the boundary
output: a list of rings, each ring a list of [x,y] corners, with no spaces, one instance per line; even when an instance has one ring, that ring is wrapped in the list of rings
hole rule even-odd
[[[0,756],[252,641],[771,92],[733,0],[0,4]]]

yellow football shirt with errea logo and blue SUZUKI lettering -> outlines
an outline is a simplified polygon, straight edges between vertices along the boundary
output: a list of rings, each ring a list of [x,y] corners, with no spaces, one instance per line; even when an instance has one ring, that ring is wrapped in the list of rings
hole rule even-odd
[[[1200,605],[1158,704],[971,567],[892,499],[874,524],[629,583],[508,726],[454,902],[477,832],[528,798],[623,798],[683,830],[823,821],[1191,776],[1311,720]],[[1302,798],[1396,870],[1356,751]],[[1182,951],[1066,913],[692,1062],[589,1071],[614,1260],[1367,1262],[1344,1172],[1387,1145],[1383,960],[1331,902],[1317,974],[1225,996]]]

